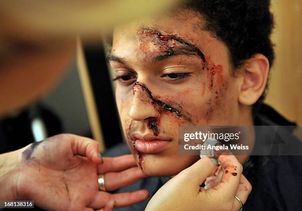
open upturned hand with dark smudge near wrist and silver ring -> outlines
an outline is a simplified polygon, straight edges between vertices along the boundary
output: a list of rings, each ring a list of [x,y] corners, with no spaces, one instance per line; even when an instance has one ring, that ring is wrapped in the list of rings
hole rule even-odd
[[[52,211],[109,211],[149,195],[147,190],[120,194],[100,191],[99,174],[104,175],[108,191],[146,176],[136,167],[133,155],[101,158],[98,142],[88,138],[61,134],[6,154],[15,164],[10,163],[14,168],[6,174],[10,176],[7,190],[11,194],[8,198],[0,194],[0,200],[33,200],[36,206]]]

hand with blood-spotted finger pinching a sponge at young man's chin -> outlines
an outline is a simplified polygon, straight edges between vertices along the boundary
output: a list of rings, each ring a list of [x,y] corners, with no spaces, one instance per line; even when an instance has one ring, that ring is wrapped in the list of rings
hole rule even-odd
[[[151,198],[146,211],[239,211],[252,186],[242,175],[242,165],[230,151],[216,155],[225,172],[222,181],[213,188],[200,185],[217,170],[209,158],[202,158],[165,183]]]

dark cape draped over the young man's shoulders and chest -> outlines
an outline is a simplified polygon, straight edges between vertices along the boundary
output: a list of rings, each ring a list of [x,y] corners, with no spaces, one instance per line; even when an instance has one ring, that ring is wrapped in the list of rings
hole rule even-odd
[[[254,124],[294,125],[265,105],[255,117]],[[292,131],[286,133],[293,144],[301,147],[301,141],[292,135]],[[257,135],[261,136],[261,134]],[[107,150],[104,155],[118,156],[128,153],[130,151],[126,143],[120,143]],[[243,168],[244,176],[253,187],[243,206],[244,211],[302,211],[302,156],[250,156],[243,164]],[[150,197],[144,202],[118,210],[143,211],[151,197],[169,178],[148,177],[115,191],[120,193],[147,189],[150,192]]]

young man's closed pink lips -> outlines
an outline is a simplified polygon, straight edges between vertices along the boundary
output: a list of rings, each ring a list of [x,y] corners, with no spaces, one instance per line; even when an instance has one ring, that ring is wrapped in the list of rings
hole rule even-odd
[[[164,150],[170,143],[171,140],[164,137],[154,136],[135,136],[133,137],[134,148],[142,153],[156,153]]]

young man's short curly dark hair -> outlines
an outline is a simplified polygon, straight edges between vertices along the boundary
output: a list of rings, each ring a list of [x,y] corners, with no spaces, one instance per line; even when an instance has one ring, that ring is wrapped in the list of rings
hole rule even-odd
[[[273,15],[270,0],[188,0],[185,7],[199,12],[205,21],[203,30],[226,43],[234,68],[239,68],[256,53],[274,60],[270,34]],[[266,90],[266,89],[265,89]],[[265,97],[265,91],[253,105],[255,115]]]

